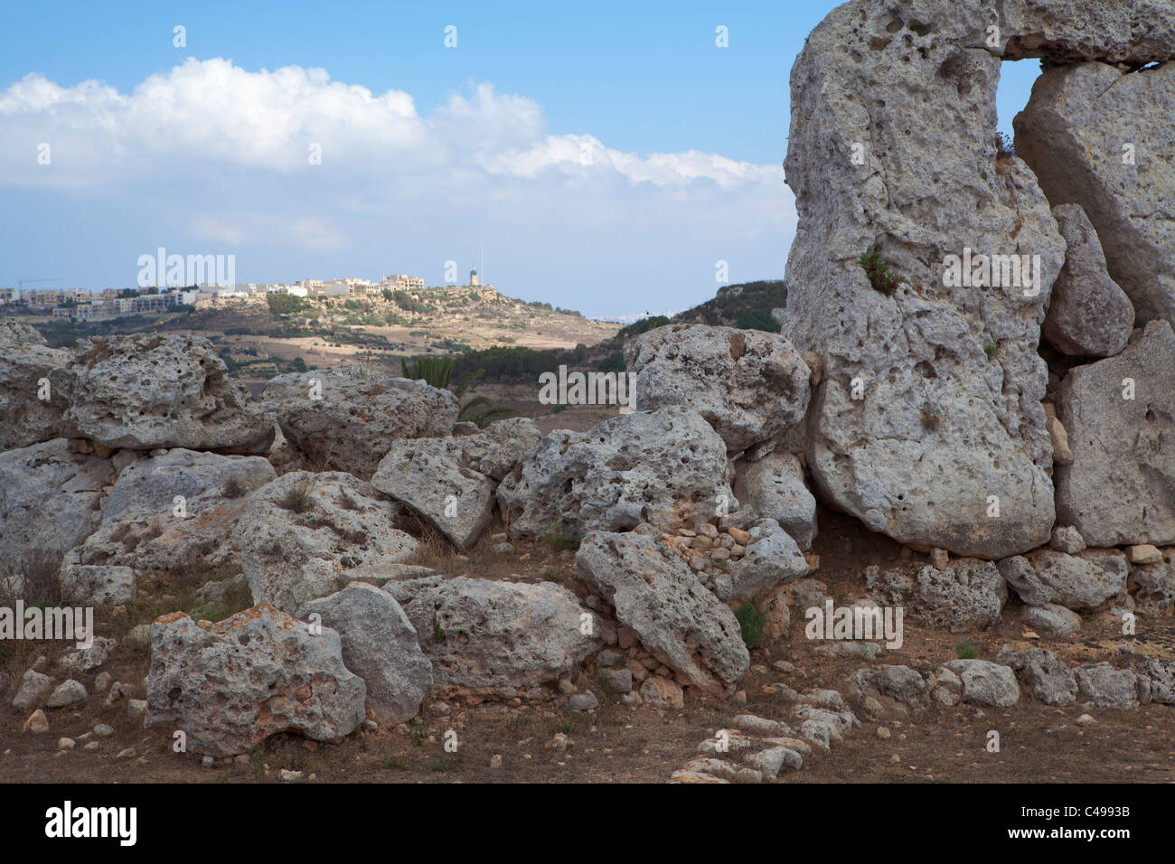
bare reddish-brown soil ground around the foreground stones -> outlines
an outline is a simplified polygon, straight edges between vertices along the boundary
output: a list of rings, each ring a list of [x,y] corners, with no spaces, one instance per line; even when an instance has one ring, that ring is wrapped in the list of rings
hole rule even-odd
[[[508,556],[489,547],[495,524],[465,556],[454,554],[435,537],[422,545],[419,563],[448,575],[525,581],[552,580],[579,590],[575,583],[573,552],[555,551],[544,543],[518,544]],[[825,582],[838,603],[865,596],[864,570],[871,563],[891,565],[902,561],[901,548],[860,529],[852,520],[820,513],[820,536],[814,551],[820,569],[812,575]],[[920,560],[920,556],[914,556]],[[680,711],[659,712],[646,705],[627,708],[593,681],[582,679],[600,697],[592,714],[571,711],[566,697],[555,695],[535,705],[482,703],[452,704],[437,716],[434,703],[422,710],[423,723],[401,729],[364,731],[342,744],[315,744],[286,735],[269,739],[237,762],[217,761],[203,768],[193,755],[173,754],[166,730],[143,730],[128,718],[126,703],[102,706],[105,694],[93,692],[93,674],[83,676],[92,695],[80,711],[47,711],[48,734],[21,732],[24,712],[9,708],[19,676],[39,654],[54,665],[68,647],[60,643],[9,642],[0,658],[6,681],[0,685],[0,777],[9,782],[163,782],[224,783],[280,782],[281,769],[314,775],[314,782],[358,783],[663,783],[697,752],[704,738],[730,724],[736,714],[751,712],[791,719],[773,683],[806,691],[841,689],[845,676],[865,661],[831,658],[813,651],[804,636],[803,617],[793,612],[790,632],[778,642],[752,651],[752,670],[743,682],[746,702],[718,702],[690,697]],[[122,636],[128,622],[100,618],[100,635]],[[1122,637],[1116,622],[1086,618],[1072,639],[1040,639],[1069,662],[1110,658]],[[1171,656],[1170,619],[1140,619],[1139,650]],[[1149,634],[1149,637],[1148,637]],[[1023,638],[1019,615],[1006,610],[1001,623],[987,631],[948,634],[921,628],[907,619],[900,650],[882,650],[875,663],[902,663],[929,671],[955,657],[955,647],[969,642],[981,658],[993,658],[1005,643],[1032,644]],[[780,674],[774,661],[786,659],[795,671]],[[122,639],[105,667],[115,681],[132,682],[134,697],[146,696],[142,682],[148,656]],[[59,676],[60,677],[60,676]],[[817,754],[801,771],[780,777],[786,783],[852,782],[1159,782],[1175,781],[1175,709],[1148,705],[1135,710],[1096,709],[1095,723],[1079,725],[1080,705],[1058,709],[1023,698],[1007,710],[960,705],[932,705],[926,711],[868,721],[858,712],[862,728],[845,736],[831,754]],[[78,737],[98,723],[115,729],[100,739],[96,750],[58,750],[61,736]],[[889,737],[879,737],[879,728]],[[1001,736],[1000,752],[988,752],[987,734]],[[457,732],[458,750],[445,752],[445,732]],[[566,736],[559,749],[557,734]],[[134,756],[119,758],[127,748]],[[491,757],[502,764],[491,768]]]

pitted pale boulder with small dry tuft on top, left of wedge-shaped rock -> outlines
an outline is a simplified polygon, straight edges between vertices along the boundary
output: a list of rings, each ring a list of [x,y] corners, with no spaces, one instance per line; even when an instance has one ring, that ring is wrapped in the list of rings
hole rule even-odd
[[[343,471],[291,471],[254,494],[233,529],[254,602],[293,611],[411,556],[398,505],[377,495]]]

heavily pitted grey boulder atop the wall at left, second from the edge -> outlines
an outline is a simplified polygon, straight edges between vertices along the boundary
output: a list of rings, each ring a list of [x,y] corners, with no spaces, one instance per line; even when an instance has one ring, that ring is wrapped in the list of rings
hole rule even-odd
[[[274,427],[202,336],[94,336],[49,376],[78,437],[133,450],[266,453]]]

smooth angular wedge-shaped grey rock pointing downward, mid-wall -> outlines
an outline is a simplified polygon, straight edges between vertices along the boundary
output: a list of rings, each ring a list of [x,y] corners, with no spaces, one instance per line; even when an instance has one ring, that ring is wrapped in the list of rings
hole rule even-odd
[[[462,440],[391,442],[371,485],[419,514],[458,549],[468,549],[490,520],[494,482],[451,453]]]

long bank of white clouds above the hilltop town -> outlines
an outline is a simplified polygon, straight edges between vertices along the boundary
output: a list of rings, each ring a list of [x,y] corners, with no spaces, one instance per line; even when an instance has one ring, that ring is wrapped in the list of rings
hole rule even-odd
[[[49,165],[38,165],[40,143]],[[0,91],[0,187],[65,195],[62,213],[99,208],[90,221],[123,228],[135,255],[231,247],[239,275],[254,281],[281,277],[271,270],[287,260],[342,266],[389,249],[400,260],[418,249],[439,272],[490,232],[503,254],[517,247],[516,286],[533,268],[531,296],[552,276],[593,302],[600,277],[618,292],[624,279],[673,286],[673,263],[705,292],[716,259],[745,277],[781,273],[795,223],[783,176],[696,149],[642,155],[551,134],[542,106],[484,82],[425,114],[408,93],[376,94],[324,69],[249,72],[219,58],[188,59],[130,93],[39,74]],[[578,261],[579,275],[556,274],[552,260]],[[657,308],[667,304],[682,297]]]

